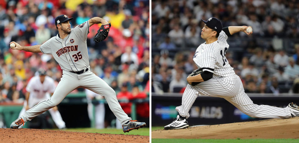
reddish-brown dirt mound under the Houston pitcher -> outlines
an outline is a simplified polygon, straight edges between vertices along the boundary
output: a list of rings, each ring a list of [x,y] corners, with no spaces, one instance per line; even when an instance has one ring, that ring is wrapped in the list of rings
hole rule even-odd
[[[0,142],[149,142],[149,136],[0,128]]]

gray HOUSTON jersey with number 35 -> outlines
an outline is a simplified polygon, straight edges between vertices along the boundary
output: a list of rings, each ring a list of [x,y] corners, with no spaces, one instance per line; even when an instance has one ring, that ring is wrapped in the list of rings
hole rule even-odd
[[[59,34],[40,46],[44,54],[52,54],[62,70],[78,72],[89,68],[87,51],[88,21],[71,29],[71,33],[61,39]]]

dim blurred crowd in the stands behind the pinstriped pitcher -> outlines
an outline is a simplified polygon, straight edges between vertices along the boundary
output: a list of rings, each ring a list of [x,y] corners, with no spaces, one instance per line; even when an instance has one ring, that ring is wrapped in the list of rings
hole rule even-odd
[[[297,0],[152,1],[152,92],[184,91],[187,75],[198,68],[192,57],[204,42],[200,37],[204,24],[201,19],[216,17],[223,27],[253,28],[250,36],[239,32],[229,37],[228,40],[233,40],[228,41],[230,48],[226,53],[246,93],[298,93],[297,3]],[[238,48],[239,45],[243,47]]]

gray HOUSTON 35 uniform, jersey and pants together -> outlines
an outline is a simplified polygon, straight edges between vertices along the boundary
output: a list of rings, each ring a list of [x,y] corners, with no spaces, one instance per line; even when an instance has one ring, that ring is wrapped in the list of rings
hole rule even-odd
[[[115,91],[100,77],[88,70],[89,59],[86,44],[88,30],[89,23],[86,21],[72,28],[70,34],[64,39],[57,35],[40,46],[41,52],[53,55],[63,70],[63,75],[54,94],[48,100],[41,101],[25,111],[21,116],[25,122],[58,105],[71,91],[80,87],[104,96],[111,111],[121,121],[121,124],[132,120],[121,109]],[[84,71],[81,74],[73,73],[82,70]]]

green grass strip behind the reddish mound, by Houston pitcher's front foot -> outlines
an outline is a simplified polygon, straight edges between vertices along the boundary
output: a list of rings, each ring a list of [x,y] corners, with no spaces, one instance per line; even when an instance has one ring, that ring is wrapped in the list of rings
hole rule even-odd
[[[53,129],[53,130],[58,130],[58,129]],[[132,130],[132,131],[129,131],[129,132],[126,132],[126,133],[124,133],[122,131],[122,129],[115,129],[115,128],[105,128],[105,129],[69,128],[69,129],[62,130],[62,131],[150,136],[150,128],[140,128],[138,130]]]

